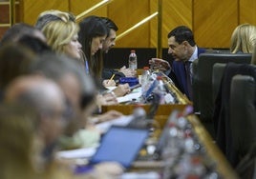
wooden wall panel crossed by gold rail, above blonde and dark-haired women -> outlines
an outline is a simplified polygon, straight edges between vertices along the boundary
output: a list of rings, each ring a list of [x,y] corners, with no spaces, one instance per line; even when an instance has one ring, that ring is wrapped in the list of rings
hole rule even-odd
[[[78,15],[85,10],[89,10],[99,2],[101,2],[101,0],[71,0],[70,11],[72,11],[75,15]],[[97,10],[92,11],[88,15],[107,16],[107,6],[108,5],[106,4],[105,6],[102,6]]]

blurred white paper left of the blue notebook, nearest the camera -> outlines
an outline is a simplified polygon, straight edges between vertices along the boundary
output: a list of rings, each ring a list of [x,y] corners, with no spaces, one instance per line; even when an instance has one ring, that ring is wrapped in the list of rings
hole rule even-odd
[[[65,159],[90,158],[95,152],[96,148],[71,149],[56,152],[56,157]]]

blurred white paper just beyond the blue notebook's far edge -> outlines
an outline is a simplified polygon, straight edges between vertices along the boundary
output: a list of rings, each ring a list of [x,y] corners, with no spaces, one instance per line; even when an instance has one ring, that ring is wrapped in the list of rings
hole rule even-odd
[[[102,132],[106,132],[112,125],[126,126],[132,121],[132,119],[132,115],[123,115],[117,119],[97,124],[96,129],[99,129]]]

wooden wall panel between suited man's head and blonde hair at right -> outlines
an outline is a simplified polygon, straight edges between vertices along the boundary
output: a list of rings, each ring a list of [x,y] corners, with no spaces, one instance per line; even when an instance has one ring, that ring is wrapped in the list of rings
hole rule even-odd
[[[193,30],[203,48],[228,48],[232,31],[238,24],[235,0],[194,0]]]

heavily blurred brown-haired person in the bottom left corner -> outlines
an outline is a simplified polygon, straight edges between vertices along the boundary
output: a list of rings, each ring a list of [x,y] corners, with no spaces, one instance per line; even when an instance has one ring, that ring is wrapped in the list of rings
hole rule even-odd
[[[30,112],[29,112],[30,111]],[[0,178],[33,179],[35,115],[18,105],[0,105]]]

